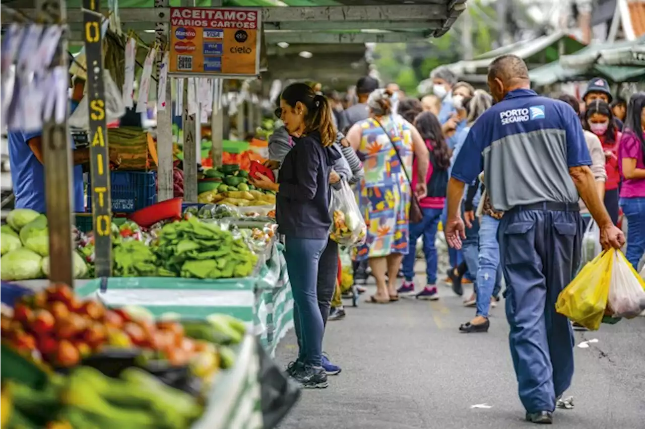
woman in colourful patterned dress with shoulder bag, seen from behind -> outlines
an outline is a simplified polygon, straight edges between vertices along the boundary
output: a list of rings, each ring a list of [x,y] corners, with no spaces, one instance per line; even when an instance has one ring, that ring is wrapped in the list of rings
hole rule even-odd
[[[397,272],[409,247],[412,155],[420,177],[428,173],[430,157],[419,131],[401,116],[392,115],[391,97],[390,91],[373,91],[368,99],[370,118],[352,126],[346,136],[364,157],[365,176],[357,191],[368,233],[356,258],[369,261],[376,279],[377,292],[368,301],[372,303],[398,300]],[[426,184],[417,184],[414,192],[423,198]]]

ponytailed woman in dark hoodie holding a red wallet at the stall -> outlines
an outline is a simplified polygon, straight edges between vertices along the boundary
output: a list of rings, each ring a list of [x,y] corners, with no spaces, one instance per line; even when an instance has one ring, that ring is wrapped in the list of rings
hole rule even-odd
[[[332,148],[336,129],[325,97],[307,84],[291,84],[281,95],[280,108],[293,148],[281,165],[276,161],[271,166],[280,168],[277,184],[261,174],[256,175],[253,184],[277,193],[278,232],[285,236],[285,258],[300,326],[296,330],[299,357],[290,374],[303,387],[323,388],[328,383],[323,368],[324,322],[317,281],[319,261],[328,245],[332,224],[330,175],[334,162],[342,155]]]

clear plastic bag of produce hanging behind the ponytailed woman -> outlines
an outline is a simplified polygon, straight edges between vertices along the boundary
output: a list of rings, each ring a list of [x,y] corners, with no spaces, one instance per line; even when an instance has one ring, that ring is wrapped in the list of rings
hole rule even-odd
[[[367,226],[356,204],[352,188],[346,182],[341,181],[341,189],[332,188],[332,202],[329,207],[332,240],[348,247],[364,243]]]

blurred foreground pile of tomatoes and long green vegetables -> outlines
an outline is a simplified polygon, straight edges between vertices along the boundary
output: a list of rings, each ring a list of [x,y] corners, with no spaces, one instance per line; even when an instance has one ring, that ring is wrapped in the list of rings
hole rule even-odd
[[[244,333],[223,314],[155,322],[144,309],[80,301],[66,285],[23,296],[0,319],[0,427],[189,428]]]

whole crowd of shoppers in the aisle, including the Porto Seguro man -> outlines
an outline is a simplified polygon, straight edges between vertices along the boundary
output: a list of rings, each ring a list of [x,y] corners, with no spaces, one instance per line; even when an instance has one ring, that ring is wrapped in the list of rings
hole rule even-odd
[[[464,284],[473,283],[464,304],[475,307],[475,315],[459,330],[490,329],[490,309],[505,280],[527,419],[550,421],[570,370],[549,381],[536,368],[570,365],[570,352],[549,357],[542,348],[546,341],[570,343],[571,328],[544,303],[552,303],[579,269],[588,215],[602,244],[619,247],[624,236],[614,225],[622,209],[630,231],[626,256],[635,269],[645,253],[645,94],[625,103],[612,97],[608,82],[595,78],[581,101],[567,94],[541,97],[530,90],[524,62],[513,55],[493,61],[490,93],[457,81],[445,67],[431,77],[433,93],[419,99],[406,97],[396,84],[382,88],[373,77],[357,82],[352,105],[308,84],[292,84],[279,97],[276,115],[284,125],[270,138],[267,162],[277,170],[277,184],[263,176],[255,184],[277,191],[277,222],[286,238],[299,345],[288,372],[301,385],[318,388],[341,372],[323,354],[323,335],[330,314],[345,315],[340,250],[328,236],[328,208],[331,189],[346,182],[367,225],[365,242],[352,249],[355,280],[375,278],[376,292],[367,302],[439,299],[435,238],[443,225],[451,251],[445,281],[460,296]],[[530,113],[508,120],[522,109]],[[426,280],[417,288],[419,241]],[[538,242],[557,245],[547,249]],[[545,287],[522,289],[537,281],[527,280],[533,271],[526,267],[538,261],[533,271],[544,271],[539,278]],[[543,323],[547,312],[552,326]],[[539,341],[527,345],[528,336]],[[546,390],[530,388],[538,382]]]

